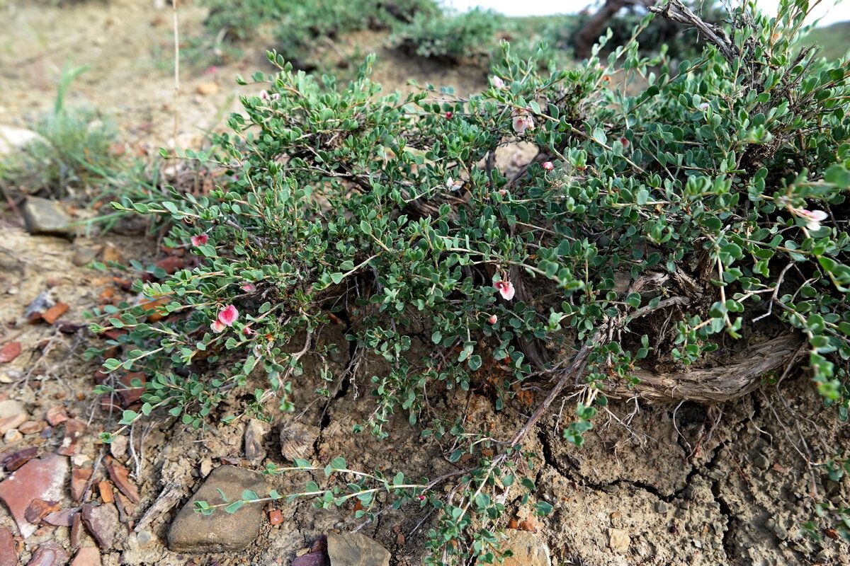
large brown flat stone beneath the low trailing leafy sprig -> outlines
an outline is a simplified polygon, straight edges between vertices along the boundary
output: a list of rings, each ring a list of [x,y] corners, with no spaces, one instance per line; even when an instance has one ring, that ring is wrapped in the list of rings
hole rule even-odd
[[[246,505],[236,513],[217,509],[209,515],[195,513],[195,502],[221,503],[217,489],[229,501],[240,499],[242,491],[252,490],[259,496],[265,491],[263,476],[245,468],[221,466],[212,473],[192,496],[168,530],[168,548],[182,552],[223,552],[242,550],[251,545],[263,524],[263,506]]]

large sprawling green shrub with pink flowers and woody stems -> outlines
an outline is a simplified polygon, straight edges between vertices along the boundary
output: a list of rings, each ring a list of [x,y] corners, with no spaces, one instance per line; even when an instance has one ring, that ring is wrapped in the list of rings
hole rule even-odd
[[[373,57],[326,89],[330,77],[320,85],[270,53],[279,72],[252,77],[258,93],[230,117],[220,151],[178,154],[224,168],[226,182],[208,196],[114,205],[173,220],[165,244],[199,259],[135,284],[162,301],[161,321],[127,304],[95,313],[94,330],[127,331],[104,371],[150,376],[141,411],[122,425],[167,410],[201,427],[258,378],[294,410],[301,359],[332,347],[315,337],[336,313],[387,370],[323,367],[311,389],[371,384],[375,410],[355,431],[388,436],[402,413],[423,436],[450,438],[450,461],[469,468],[439,479],[456,482],[445,496],[431,481],[377,473],[294,495],[320,492],[328,507],[356,496],[358,516],[433,506],[428,563],[460,564],[496,558],[504,496],[535,489],[519,471],[524,438],[566,389],[577,402],[562,432],[578,446],[611,399],[727,401],[801,361],[847,420],[850,73],[794,54],[806,3],[794,4],[776,20],[736,10],[729,33],[672,0],[672,17],[711,42],[677,66],[632,40],[607,64],[598,46],[575,69],[541,71],[505,45],[490,87],[471,98],[379,96]],[[618,70],[647,87],[605,87]],[[498,163],[496,150],[517,142],[536,147],[533,159]],[[411,352],[422,328],[428,356]],[[466,430],[463,415],[429,402],[479,388],[500,411],[530,381],[546,398],[501,434]],[[350,477],[342,459],[323,469]]]

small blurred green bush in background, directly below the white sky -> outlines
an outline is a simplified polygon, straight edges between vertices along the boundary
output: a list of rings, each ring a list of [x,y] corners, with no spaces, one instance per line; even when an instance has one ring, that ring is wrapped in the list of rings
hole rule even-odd
[[[420,57],[456,63],[461,59],[489,58],[497,45],[496,31],[505,18],[492,10],[475,8],[462,14],[416,14],[399,27],[390,42]]]

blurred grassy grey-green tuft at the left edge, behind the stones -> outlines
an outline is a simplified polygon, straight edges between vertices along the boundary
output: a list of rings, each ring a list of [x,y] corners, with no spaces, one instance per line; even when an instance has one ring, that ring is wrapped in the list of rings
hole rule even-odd
[[[92,109],[66,108],[71,81],[87,67],[66,70],[54,109],[34,120],[38,134],[19,154],[0,161],[0,188],[63,198],[103,177],[114,156],[116,130]]]

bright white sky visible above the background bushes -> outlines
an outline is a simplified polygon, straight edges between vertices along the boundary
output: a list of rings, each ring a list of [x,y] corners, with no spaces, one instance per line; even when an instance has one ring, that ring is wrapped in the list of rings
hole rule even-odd
[[[575,13],[593,3],[593,0],[443,0],[443,3],[460,11],[480,6],[508,16],[527,16]],[[775,14],[779,6],[779,0],[756,0],[756,3],[768,14]],[[850,20],[850,0],[839,0],[837,4],[835,0],[822,0],[813,9],[812,20],[816,17],[821,18],[819,25]]]

